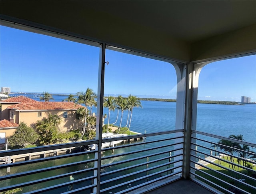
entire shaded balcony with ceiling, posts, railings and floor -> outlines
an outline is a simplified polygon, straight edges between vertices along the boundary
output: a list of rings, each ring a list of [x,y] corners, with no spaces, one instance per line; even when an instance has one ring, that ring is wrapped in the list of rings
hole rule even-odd
[[[255,142],[196,130],[200,70],[255,54],[255,18],[255,1],[2,0],[1,25],[99,48],[97,115],[103,115],[106,47],[170,62],[177,105],[176,130],[128,137],[135,141],[2,151],[1,193],[256,193]]]

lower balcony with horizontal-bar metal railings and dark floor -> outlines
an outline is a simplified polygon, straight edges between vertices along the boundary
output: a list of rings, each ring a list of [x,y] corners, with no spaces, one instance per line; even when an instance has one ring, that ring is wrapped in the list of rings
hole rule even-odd
[[[1,192],[184,193],[183,189],[191,193],[254,193],[256,190],[255,153],[251,151],[256,144],[192,131],[190,178],[184,180],[187,168],[184,130],[104,138],[102,143],[121,139],[124,143],[118,146],[102,149],[96,146],[96,150],[83,148],[99,144],[98,140],[2,151],[1,160],[6,164],[1,165]]]

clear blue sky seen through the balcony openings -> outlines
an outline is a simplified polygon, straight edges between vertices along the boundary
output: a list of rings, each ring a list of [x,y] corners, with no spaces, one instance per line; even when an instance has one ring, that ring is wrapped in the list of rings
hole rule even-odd
[[[99,48],[0,26],[0,86],[12,92],[97,91]],[[176,73],[167,63],[106,50],[105,95],[176,99]],[[163,84],[164,83],[164,84]],[[256,101],[256,56],[202,68],[199,100]]]

